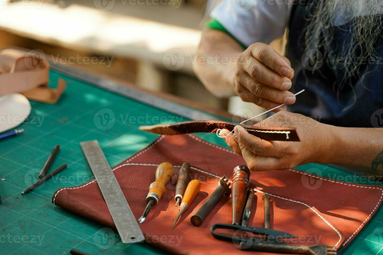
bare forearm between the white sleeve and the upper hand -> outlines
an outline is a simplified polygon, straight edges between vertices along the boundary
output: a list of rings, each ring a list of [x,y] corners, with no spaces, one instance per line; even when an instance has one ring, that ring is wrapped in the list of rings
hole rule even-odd
[[[243,52],[233,38],[219,30],[204,29],[193,69],[211,93],[218,97],[235,94],[235,60]]]

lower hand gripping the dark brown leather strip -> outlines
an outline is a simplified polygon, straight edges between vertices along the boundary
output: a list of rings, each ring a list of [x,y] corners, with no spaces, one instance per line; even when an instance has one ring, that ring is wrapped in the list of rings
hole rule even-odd
[[[296,127],[300,142],[262,140],[250,135],[245,128],[236,126],[236,137],[227,136],[224,140],[244,158],[250,171],[292,169],[309,162],[325,163],[331,154],[333,126],[304,115],[281,111],[254,126]],[[224,131],[229,133],[229,130]],[[221,131],[219,135],[226,134]]]

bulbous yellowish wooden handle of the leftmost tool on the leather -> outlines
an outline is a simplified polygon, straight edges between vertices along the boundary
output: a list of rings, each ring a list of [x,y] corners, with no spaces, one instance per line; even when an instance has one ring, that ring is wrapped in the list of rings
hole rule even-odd
[[[146,203],[153,199],[153,197],[158,203],[162,195],[164,195],[166,190],[165,185],[169,182],[170,178],[172,178],[173,173],[173,165],[168,162],[163,162],[157,167],[157,170],[155,171],[155,181],[149,186],[149,193],[146,197]],[[157,194],[157,196],[154,194]]]

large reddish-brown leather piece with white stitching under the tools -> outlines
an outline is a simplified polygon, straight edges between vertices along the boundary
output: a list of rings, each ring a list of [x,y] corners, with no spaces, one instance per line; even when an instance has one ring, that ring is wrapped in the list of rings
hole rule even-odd
[[[190,218],[214,192],[219,177],[231,178],[234,167],[245,164],[231,150],[213,145],[194,135],[160,136],[152,145],[114,167],[114,174],[136,219],[146,207],[149,185],[157,165],[171,162],[175,172],[190,163],[190,175],[201,182],[201,190],[172,231],[178,207],[174,206],[175,177],[166,192],[140,224],[146,241],[179,254],[249,254],[232,242],[214,239],[214,223],[231,224],[231,199],[223,196],[200,227]],[[310,179],[311,178],[311,179]],[[255,188],[249,226],[264,226],[262,197],[270,195],[271,227],[300,237],[291,244],[334,245],[343,249],[380,208],[382,187],[354,185],[305,174],[298,170],[250,172],[250,188]],[[368,198],[368,199],[367,199]],[[60,188],[52,202],[66,210],[115,228],[97,182]],[[270,254],[270,253],[256,253]]]

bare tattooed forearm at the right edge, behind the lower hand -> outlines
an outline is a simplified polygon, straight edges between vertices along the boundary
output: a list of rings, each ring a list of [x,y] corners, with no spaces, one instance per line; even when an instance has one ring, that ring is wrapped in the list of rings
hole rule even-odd
[[[383,129],[330,127],[332,146],[327,163],[383,174]]]

